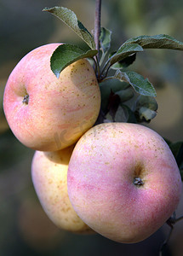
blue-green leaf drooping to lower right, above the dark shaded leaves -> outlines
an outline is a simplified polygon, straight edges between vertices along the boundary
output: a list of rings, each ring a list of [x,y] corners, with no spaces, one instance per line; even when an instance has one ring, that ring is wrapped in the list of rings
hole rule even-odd
[[[117,70],[114,78],[129,83],[140,95],[157,96],[156,90],[148,79],[144,79],[139,73],[133,71],[122,72]]]

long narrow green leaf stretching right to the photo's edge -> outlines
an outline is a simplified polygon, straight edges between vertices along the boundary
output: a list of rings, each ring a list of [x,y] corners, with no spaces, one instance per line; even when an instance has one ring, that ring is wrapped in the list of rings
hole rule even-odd
[[[140,44],[144,49],[179,49],[183,50],[183,43],[169,35],[160,34],[155,36],[140,36],[130,38],[124,44]]]

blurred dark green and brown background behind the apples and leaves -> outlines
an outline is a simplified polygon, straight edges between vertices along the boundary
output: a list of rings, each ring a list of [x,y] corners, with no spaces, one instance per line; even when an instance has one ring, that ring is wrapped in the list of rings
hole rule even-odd
[[[31,183],[34,151],[20,144],[3,115],[3,90],[14,66],[31,49],[62,42],[82,44],[44,7],[72,9],[89,31],[94,28],[93,0],[0,0],[0,256],[155,256],[169,233],[164,225],[138,244],[110,241],[100,235],[75,235],[57,229],[43,212]],[[102,26],[112,30],[112,49],[128,38],[166,33],[183,41],[180,0],[106,0]],[[130,67],[149,78],[159,108],[150,126],[172,142],[183,141],[183,52],[149,49]],[[177,211],[183,214],[183,199]],[[183,221],[176,224],[166,255],[183,255]]]

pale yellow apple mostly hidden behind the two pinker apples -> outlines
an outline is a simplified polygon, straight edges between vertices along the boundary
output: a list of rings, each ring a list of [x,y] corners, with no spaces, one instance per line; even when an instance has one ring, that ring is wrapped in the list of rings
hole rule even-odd
[[[31,178],[38,199],[52,222],[63,230],[93,233],[71,206],[67,193],[67,170],[73,146],[56,152],[36,151]]]

